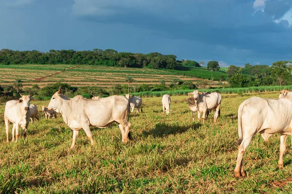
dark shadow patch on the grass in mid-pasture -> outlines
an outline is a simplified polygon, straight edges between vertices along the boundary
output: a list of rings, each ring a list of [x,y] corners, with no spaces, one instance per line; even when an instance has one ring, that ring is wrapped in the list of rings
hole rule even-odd
[[[143,131],[144,136],[152,135],[153,137],[164,137],[170,134],[180,134],[186,132],[188,129],[198,129],[201,127],[201,123],[179,126],[177,124],[169,125],[166,123],[158,123],[155,128],[150,131]]]

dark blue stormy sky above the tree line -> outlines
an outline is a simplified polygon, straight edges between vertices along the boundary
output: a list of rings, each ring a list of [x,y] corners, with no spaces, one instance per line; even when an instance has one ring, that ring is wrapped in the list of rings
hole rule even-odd
[[[292,61],[292,0],[0,0],[0,49]]]

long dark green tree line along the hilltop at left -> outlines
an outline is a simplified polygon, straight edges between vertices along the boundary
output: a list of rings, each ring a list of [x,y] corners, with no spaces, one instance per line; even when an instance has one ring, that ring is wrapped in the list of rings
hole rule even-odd
[[[53,50],[49,52],[0,50],[0,64],[86,64],[122,67],[148,67],[153,69],[174,69],[177,65],[175,55],[158,52],[149,54],[117,52],[113,49],[93,49],[86,51]]]

